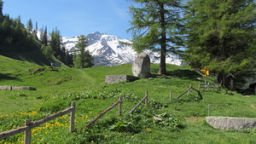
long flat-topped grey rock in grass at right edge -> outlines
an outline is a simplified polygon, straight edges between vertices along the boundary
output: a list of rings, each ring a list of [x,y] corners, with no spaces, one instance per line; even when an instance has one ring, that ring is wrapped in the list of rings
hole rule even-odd
[[[219,130],[252,130],[256,128],[256,118],[207,117],[207,123]]]

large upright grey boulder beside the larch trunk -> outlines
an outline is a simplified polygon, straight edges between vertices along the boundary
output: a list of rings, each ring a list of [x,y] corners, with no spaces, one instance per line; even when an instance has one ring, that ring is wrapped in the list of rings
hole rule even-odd
[[[150,58],[147,53],[142,52],[137,55],[137,58],[133,61],[131,70],[134,76],[149,78],[150,73]]]

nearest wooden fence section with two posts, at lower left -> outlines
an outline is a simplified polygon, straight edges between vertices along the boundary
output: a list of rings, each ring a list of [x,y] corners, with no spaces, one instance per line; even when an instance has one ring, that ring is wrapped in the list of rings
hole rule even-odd
[[[53,115],[50,115],[46,118],[40,119],[38,121],[32,122],[31,119],[26,119],[25,121],[25,126],[17,128],[15,130],[9,130],[9,131],[4,131],[2,133],[0,133],[0,140],[7,138],[11,135],[16,135],[19,134],[21,132],[24,132],[25,136],[24,136],[24,143],[25,144],[30,144],[31,143],[31,130],[35,127],[38,127],[40,124],[44,124],[46,122],[48,122],[49,120],[53,120],[55,118],[59,118],[65,114],[67,114],[68,112],[70,112],[70,127],[69,127],[69,131],[73,132],[74,130],[74,119],[75,119],[75,102],[72,102],[71,107],[68,107],[65,110],[62,110],[60,112],[56,112]]]

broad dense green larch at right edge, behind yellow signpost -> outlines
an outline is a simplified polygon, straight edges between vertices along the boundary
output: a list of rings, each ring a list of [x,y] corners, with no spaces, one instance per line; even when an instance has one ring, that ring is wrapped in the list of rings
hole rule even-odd
[[[228,86],[226,76],[236,76],[236,85],[252,77],[255,68],[256,4],[253,0],[190,0],[185,13],[190,66],[207,66]]]

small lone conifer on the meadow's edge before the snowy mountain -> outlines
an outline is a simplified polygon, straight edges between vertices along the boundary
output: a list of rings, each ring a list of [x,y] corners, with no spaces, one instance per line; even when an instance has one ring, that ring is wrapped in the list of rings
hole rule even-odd
[[[78,36],[79,41],[76,43],[75,55],[73,56],[73,64],[76,68],[86,68],[93,66],[93,57],[90,55],[89,50],[85,51],[85,47],[88,46],[87,37],[84,35]]]

